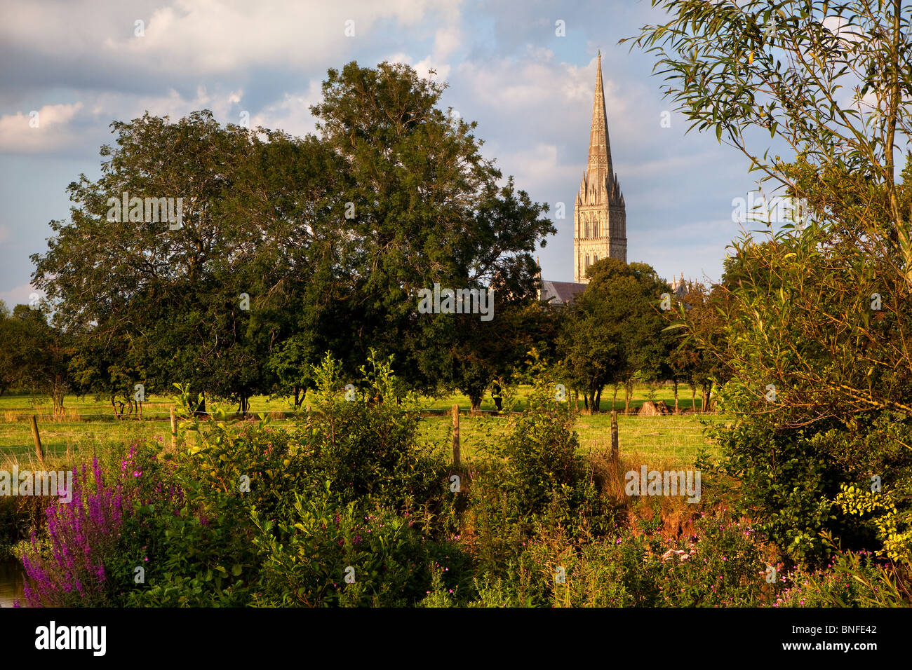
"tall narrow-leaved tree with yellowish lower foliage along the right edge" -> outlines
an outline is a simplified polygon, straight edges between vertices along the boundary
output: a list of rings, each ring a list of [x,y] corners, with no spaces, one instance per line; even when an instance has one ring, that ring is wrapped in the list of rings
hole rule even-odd
[[[755,212],[758,230],[732,243],[722,345],[689,332],[731,372],[720,397],[738,420],[718,437],[745,508],[793,556],[824,556],[820,531],[857,538],[834,511],[840,485],[876,475],[907,495],[912,201],[896,157],[912,137],[912,7],[653,5],[668,22],[634,39],[691,129],[741,150],[767,195],[799,205]]]

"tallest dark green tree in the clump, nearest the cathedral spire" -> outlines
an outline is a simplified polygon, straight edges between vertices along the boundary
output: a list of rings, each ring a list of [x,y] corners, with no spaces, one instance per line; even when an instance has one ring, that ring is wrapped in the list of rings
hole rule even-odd
[[[514,324],[536,293],[535,248],[555,230],[540,218],[545,205],[512,178],[500,185],[476,124],[439,107],[444,88],[405,65],[349,63],[329,70],[312,108],[322,141],[346,165],[338,319],[348,341],[337,356],[350,367],[374,346],[396,356],[415,387],[461,388],[477,407],[525,356]],[[419,314],[418,292],[435,283],[492,288],[493,318]]]

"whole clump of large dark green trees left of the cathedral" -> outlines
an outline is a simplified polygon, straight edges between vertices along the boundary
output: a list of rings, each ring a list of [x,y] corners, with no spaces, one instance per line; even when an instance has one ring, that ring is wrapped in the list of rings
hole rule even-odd
[[[112,124],[101,178],[70,184],[71,221],[33,256],[79,343],[80,385],[113,397],[130,381],[189,383],[243,411],[266,391],[302,402],[326,351],[354,377],[369,347],[427,391],[508,374],[525,352],[504,316],[534,301],[532,253],[554,225],[500,183],[474,124],[439,108],[443,88],[402,65],[330,70],[304,139],[208,111]],[[112,221],[123,193],[181,198],[182,221],[152,220],[142,201]],[[419,314],[434,283],[492,288],[494,318]]]

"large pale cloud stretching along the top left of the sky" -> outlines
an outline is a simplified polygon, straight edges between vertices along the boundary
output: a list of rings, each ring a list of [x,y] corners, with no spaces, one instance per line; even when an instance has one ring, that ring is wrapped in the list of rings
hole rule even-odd
[[[415,26],[430,6],[429,0],[171,0],[143,15],[137,7],[100,0],[60,3],[53,11],[11,0],[5,3],[0,39],[32,52],[81,54],[88,63],[137,72],[231,74],[279,63],[306,67],[326,56],[339,60],[350,54],[353,41],[369,39],[381,21]],[[458,17],[453,7],[434,11]],[[143,36],[135,35],[136,20],[144,22]],[[348,20],[354,21],[353,37],[345,35]],[[457,37],[440,36],[440,48],[451,48]]]

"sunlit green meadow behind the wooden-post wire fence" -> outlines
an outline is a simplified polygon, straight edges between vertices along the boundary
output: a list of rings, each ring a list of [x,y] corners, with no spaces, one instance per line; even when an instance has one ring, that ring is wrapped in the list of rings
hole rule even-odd
[[[525,407],[529,387],[520,387],[514,409]],[[690,408],[690,397],[679,397],[679,407]],[[603,396],[604,397],[604,396]],[[634,391],[631,408],[640,407],[646,399],[645,389]],[[670,387],[659,389],[657,399],[664,400],[673,407],[674,398]],[[451,418],[449,409],[458,404],[468,409],[468,398],[452,396],[428,398],[425,408],[428,415],[422,420],[420,442],[434,449],[446,452],[451,450]],[[698,399],[699,405],[699,399]],[[54,421],[50,416],[50,402],[47,398],[26,396],[0,397],[0,463],[11,459],[29,461],[34,458],[34,444],[28,417],[38,417],[42,447],[46,454],[63,456],[67,451],[72,455],[89,454],[98,448],[104,448],[111,442],[129,442],[133,439],[160,438],[171,439],[169,409],[171,402],[162,398],[151,399],[143,405],[141,421],[135,417],[117,420],[110,405],[92,397],[67,397],[64,407],[67,417]],[[226,409],[233,409],[224,405]],[[254,414],[267,412],[279,427],[292,427],[292,421],[284,418],[289,404],[283,399],[254,397],[251,400],[251,411]],[[493,402],[487,398],[482,402],[482,410],[494,409]],[[582,450],[610,448],[611,444],[611,409],[610,393],[603,399],[604,414],[581,415],[576,429],[580,437]],[[623,410],[623,402],[618,402],[618,410]],[[434,416],[437,414],[437,416]],[[683,413],[664,417],[635,417],[620,415],[618,417],[618,445],[620,451],[627,455],[638,455],[642,462],[674,462],[689,464],[693,462],[698,449],[705,448],[710,454],[715,452],[710,440],[704,437],[705,423],[718,422],[722,417]],[[482,455],[482,451],[491,444],[492,439],[507,428],[508,418],[492,415],[469,416],[460,418],[461,457],[472,461]]]

